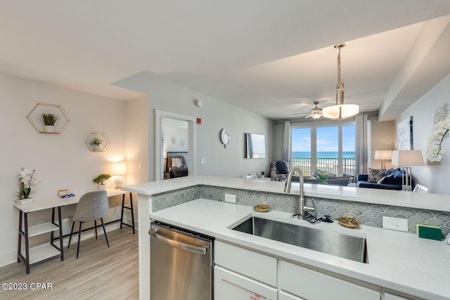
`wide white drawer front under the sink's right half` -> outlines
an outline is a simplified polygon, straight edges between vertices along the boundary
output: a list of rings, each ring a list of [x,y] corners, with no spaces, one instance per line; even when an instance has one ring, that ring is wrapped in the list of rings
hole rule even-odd
[[[281,261],[280,287],[305,299],[380,300],[380,292],[309,268]]]

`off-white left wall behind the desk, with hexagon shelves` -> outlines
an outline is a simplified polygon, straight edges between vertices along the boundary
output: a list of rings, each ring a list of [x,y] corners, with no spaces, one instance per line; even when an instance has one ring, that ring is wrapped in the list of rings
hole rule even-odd
[[[36,169],[35,176],[41,179],[32,187],[34,199],[57,197],[57,191],[65,188],[96,190],[92,178],[108,171],[105,163],[126,158],[126,103],[1,74],[0,91],[0,119],[4,120],[4,126],[0,127],[0,190],[3,194],[0,201],[0,266],[3,266],[17,259],[18,210],[13,207],[13,201],[20,169]],[[37,103],[63,106],[71,121],[62,133],[38,133],[28,122],[27,114]],[[107,133],[111,144],[106,152],[89,151],[84,141],[91,132]],[[107,186],[113,188],[113,180],[108,180]],[[72,210],[73,207],[64,207],[63,217]],[[50,213],[49,210],[31,214],[30,223],[41,219],[50,221]],[[111,219],[113,213],[110,211],[105,221]]]

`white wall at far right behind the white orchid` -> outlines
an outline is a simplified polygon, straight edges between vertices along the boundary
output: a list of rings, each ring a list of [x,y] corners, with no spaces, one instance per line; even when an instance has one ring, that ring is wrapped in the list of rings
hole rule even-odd
[[[448,176],[450,170],[450,139],[444,139],[441,162],[429,162],[426,159],[427,141],[433,126],[432,116],[435,109],[444,103],[449,103],[450,75],[444,78],[432,90],[401,113],[397,124],[409,116],[413,116],[413,147],[422,150],[426,166],[412,167],[416,183],[431,189],[431,193],[450,194]]]

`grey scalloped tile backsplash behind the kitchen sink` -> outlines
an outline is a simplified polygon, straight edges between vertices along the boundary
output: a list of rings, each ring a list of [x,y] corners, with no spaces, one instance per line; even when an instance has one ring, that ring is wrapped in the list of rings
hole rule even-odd
[[[153,211],[173,207],[198,198],[223,202],[225,193],[236,195],[236,204],[251,207],[256,204],[268,204],[271,206],[271,209],[276,211],[285,211],[291,214],[297,212],[297,195],[223,188],[212,185],[195,185],[153,195]],[[347,216],[359,220],[366,226],[383,227],[383,216],[391,216],[394,218],[408,219],[410,233],[416,233],[416,224],[422,223],[439,226],[444,235],[450,233],[450,213],[445,211],[412,209],[319,197],[305,197],[305,199],[308,204],[314,205],[317,217],[330,215],[333,219],[336,219]]]

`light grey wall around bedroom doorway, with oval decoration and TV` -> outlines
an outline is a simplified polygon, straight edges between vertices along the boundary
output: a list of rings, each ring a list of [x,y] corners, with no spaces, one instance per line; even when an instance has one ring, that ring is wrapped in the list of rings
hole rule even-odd
[[[269,119],[190,89],[154,79],[146,72],[123,79],[115,85],[148,95],[150,181],[155,180],[155,109],[202,119],[202,124],[195,125],[197,174],[241,177],[263,170],[269,171],[269,162],[273,156],[272,122]],[[194,99],[202,100],[203,106],[196,107]],[[226,149],[219,141],[219,132],[222,128],[228,129],[231,136]],[[245,132],[266,135],[266,158],[244,159]],[[206,164],[200,164],[202,158]]]

